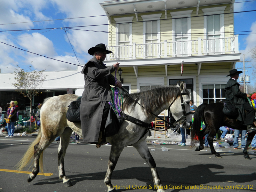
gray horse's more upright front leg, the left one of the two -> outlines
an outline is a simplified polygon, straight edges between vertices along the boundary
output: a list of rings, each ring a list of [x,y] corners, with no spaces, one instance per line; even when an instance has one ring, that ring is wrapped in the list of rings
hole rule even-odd
[[[107,170],[105,180],[104,180],[105,184],[108,187],[108,192],[116,191],[114,189],[113,185],[111,184],[111,175],[116,167],[116,163],[117,163],[118,158],[119,158],[121,152],[123,151],[123,149],[124,149],[123,143],[118,143],[118,144],[112,143],[109,160],[108,160],[108,170]]]

